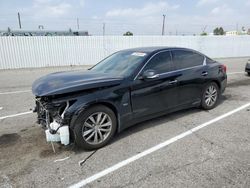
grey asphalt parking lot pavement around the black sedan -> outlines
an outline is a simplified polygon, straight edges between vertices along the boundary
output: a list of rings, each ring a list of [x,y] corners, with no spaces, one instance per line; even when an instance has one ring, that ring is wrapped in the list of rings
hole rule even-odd
[[[215,109],[194,108],[137,124],[94,152],[55,144],[54,153],[36,115],[22,114],[34,106],[35,79],[87,67],[1,70],[0,187],[250,187],[247,59],[219,60],[227,66],[228,87]],[[218,117],[223,118],[215,121]]]

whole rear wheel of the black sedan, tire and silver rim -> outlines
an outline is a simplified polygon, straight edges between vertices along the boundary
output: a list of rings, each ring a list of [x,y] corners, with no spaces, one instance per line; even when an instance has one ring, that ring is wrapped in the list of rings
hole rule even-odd
[[[205,110],[213,109],[219,99],[220,91],[216,83],[211,82],[206,85],[202,93],[201,106]]]

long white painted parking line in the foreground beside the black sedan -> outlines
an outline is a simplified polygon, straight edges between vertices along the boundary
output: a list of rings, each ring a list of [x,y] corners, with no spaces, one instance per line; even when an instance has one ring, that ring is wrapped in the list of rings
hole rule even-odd
[[[237,112],[239,112],[239,111],[241,111],[241,110],[243,110],[243,109],[245,109],[245,108],[247,108],[249,106],[250,106],[250,103],[247,103],[247,104],[245,104],[245,105],[243,105],[243,106],[241,106],[241,107],[239,107],[239,108],[237,108],[235,110],[232,110],[232,111],[230,111],[228,113],[225,113],[225,114],[223,114],[223,115],[221,115],[221,116],[219,116],[219,117],[217,117],[215,119],[212,119],[212,120],[210,120],[210,121],[208,121],[206,123],[203,123],[203,124],[201,124],[201,125],[199,125],[199,126],[197,126],[195,128],[192,128],[192,129],[190,129],[190,130],[188,130],[188,131],[186,131],[186,132],[184,132],[182,134],[179,134],[179,135],[177,135],[177,136],[175,136],[175,137],[173,137],[173,138],[171,138],[169,140],[166,140],[165,142],[162,142],[162,143],[160,143],[160,144],[158,144],[156,146],[153,146],[150,149],[147,149],[147,150],[145,150],[145,151],[143,151],[143,152],[141,152],[141,153],[139,153],[137,155],[134,155],[134,156],[132,156],[132,157],[130,157],[130,158],[124,160],[124,161],[121,161],[121,162],[119,162],[119,163],[117,163],[117,164],[115,164],[115,165],[101,171],[101,172],[98,172],[97,174],[94,174],[94,175],[90,176],[87,179],[83,179],[80,182],[70,186],[70,188],[78,188],[78,187],[82,187],[82,186],[84,186],[84,185],[86,185],[88,183],[91,183],[91,182],[93,182],[93,181],[95,181],[95,180],[97,180],[97,179],[99,179],[99,178],[101,178],[103,176],[106,176],[107,174],[110,174],[110,173],[118,170],[119,168],[122,168],[122,167],[124,167],[124,166],[126,166],[126,165],[128,165],[128,164],[130,164],[130,163],[132,163],[132,162],[146,156],[146,155],[149,155],[149,154],[151,154],[151,153],[153,153],[153,152],[155,152],[155,151],[157,151],[157,150],[159,150],[159,149],[161,149],[163,147],[166,147],[166,146],[168,146],[168,145],[170,145],[170,144],[172,144],[172,143],[174,143],[174,142],[176,142],[176,141],[178,141],[178,140],[180,140],[180,139],[182,139],[182,138],[184,138],[184,137],[186,137],[188,135],[193,134],[194,132],[196,132],[196,131],[204,128],[204,127],[207,127],[208,125],[211,125],[211,124],[213,124],[213,123],[215,123],[217,121],[220,121],[220,120],[222,120],[222,119],[224,119],[224,118],[226,118],[226,117],[228,117],[228,116],[230,116],[230,115],[232,115],[234,113],[237,113]]]

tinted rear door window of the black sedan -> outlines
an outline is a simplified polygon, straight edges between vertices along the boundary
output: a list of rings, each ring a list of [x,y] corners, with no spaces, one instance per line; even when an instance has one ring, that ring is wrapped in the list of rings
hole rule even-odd
[[[186,50],[173,50],[175,70],[195,67],[203,64],[204,56]]]

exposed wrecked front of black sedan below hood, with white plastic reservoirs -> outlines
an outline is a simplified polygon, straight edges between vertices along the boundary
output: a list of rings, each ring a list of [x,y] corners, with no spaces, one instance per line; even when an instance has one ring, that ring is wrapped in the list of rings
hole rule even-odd
[[[69,122],[65,113],[72,101],[56,102],[49,97],[36,97],[37,123],[45,129],[47,142],[70,143]]]

